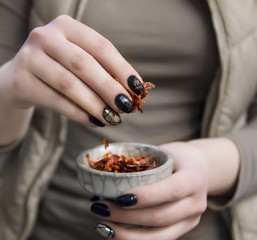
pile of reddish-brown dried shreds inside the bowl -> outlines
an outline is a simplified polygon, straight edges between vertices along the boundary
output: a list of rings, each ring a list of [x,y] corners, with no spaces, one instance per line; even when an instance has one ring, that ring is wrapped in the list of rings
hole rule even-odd
[[[116,173],[129,173],[129,172],[141,172],[155,168],[156,163],[152,157],[126,157],[124,155],[112,154],[107,152],[103,158],[97,162],[94,162],[90,155],[87,154],[89,166],[91,168],[105,171],[105,172],[116,172]]]

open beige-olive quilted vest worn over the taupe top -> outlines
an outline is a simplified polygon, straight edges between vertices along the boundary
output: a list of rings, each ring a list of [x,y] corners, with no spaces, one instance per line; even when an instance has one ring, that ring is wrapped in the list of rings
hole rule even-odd
[[[44,25],[60,14],[80,20],[86,4],[86,0],[34,1],[31,28]],[[208,0],[208,4],[220,68],[207,99],[202,136],[228,134],[250,122],[257,129],[257,1]],[[26,137],[16,144],[0,178],[1,240],[28,237],[41,196],[62,154],[65,136],[64,117],[49,109],[36,111]],[[242,143],[238,147],[243,159],[247,153]],[[4,154],[5,149],[1,151]],[[234,239],[256,240],[257,197],[253,195],[234,204],[231,214]]]

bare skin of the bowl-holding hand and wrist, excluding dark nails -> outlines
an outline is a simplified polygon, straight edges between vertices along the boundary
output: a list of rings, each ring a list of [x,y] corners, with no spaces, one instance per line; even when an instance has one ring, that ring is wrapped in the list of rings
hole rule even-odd
[[[114,230],[114,239],[177,239],[198,225],[208,195],[222,197],[233,192],[239,154],[229,139],[200,139],[161,147],[175,159],[175,170],[170,177],[126,192],[137,196],[138,202],[132,207],[101,201],[110,208],[111,215],[103,223]],[[110,220],[151,227],[128,229]]]

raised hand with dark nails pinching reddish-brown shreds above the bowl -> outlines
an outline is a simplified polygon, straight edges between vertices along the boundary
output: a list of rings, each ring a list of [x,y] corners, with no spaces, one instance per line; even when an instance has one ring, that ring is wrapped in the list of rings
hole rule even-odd
[[[69,16],[32,30],[3,68],[1,87],[9,104],[46,106],[88,126],[119,124],[119,113],[134,110],[128,91],[144,91],[113,44]]]

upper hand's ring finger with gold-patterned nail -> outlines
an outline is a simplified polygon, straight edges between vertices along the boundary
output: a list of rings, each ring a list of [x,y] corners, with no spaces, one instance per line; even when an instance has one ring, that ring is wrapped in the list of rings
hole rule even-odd
[[[31,71],[36,77],[42,79],[47,85],[60,92],[69,101],[84,109],[103,124],[120,123],[119,115],[114,111],[112,111],[113,115],[111,116],[117,121],[112,122],[113,119],[104,118],[106,103],[77,76],[44,53],[39,51],[36,55],[37,58],[31,64]],[[55,104],[53,102],[53,105]]]

